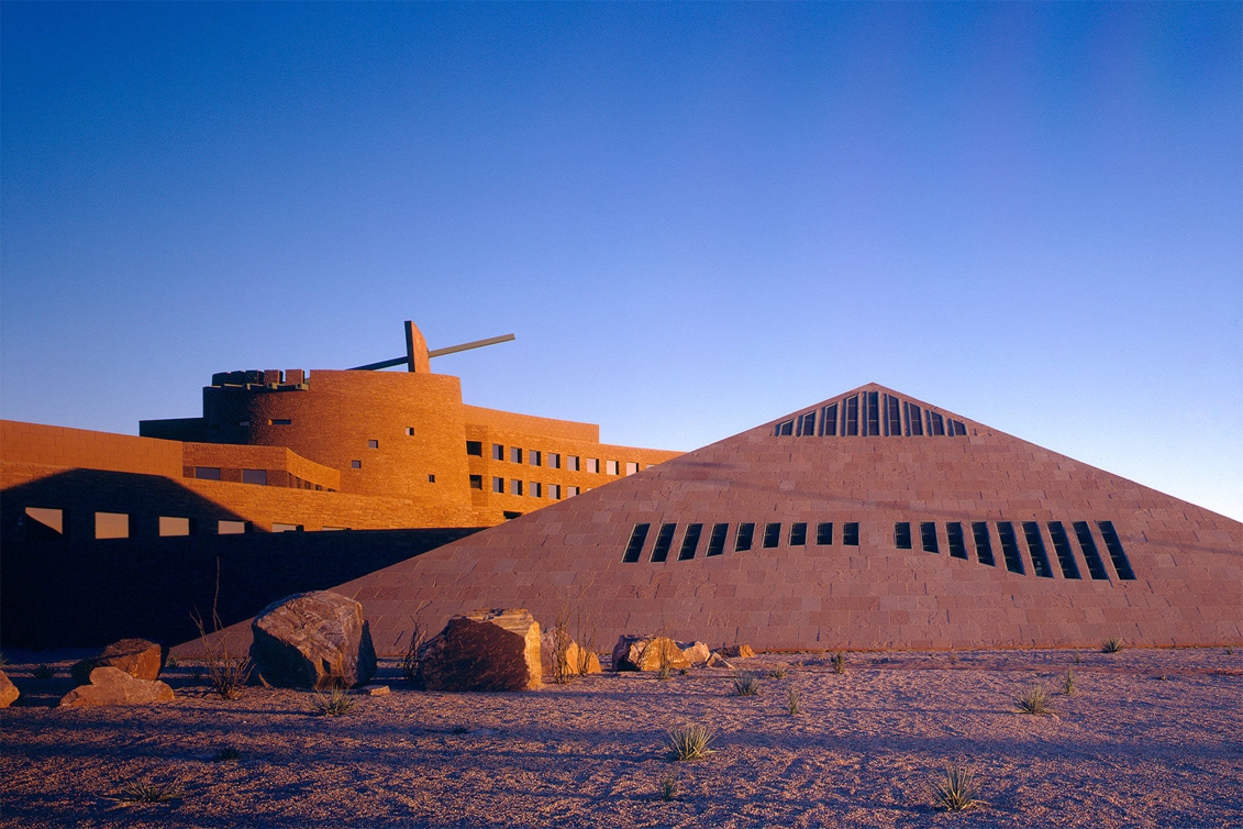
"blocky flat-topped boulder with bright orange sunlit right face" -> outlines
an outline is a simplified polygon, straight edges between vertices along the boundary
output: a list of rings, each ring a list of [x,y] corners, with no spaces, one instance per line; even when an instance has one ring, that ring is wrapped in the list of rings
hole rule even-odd
[[[429,691],[537,689],[539,650],[539,623],[526,610],[454,616],[423,646],[416,682]]]

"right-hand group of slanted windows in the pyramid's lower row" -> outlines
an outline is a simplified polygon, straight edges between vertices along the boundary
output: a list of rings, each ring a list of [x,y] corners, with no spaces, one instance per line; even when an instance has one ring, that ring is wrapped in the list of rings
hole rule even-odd
[[[1013,522],[998,521],[996,524],[997,539],[1001,542],[1006,569],[1011,573],[1025,574],[1027,569],[1023,564],[1023,556],[1019,552],[1018,533],[1014,529]],[[1070,526],[1075,541],[1079,543],[1079,553],[1088,564],[1089,575],[1094,579],[1108,580],[1109,574],[1105,572],[1105,563],[1101,561],[1100,549],[1096,547],[1096,539],[1093,537],[1089,523],[1086,521],[1074,521]],[[1062,570],[1062,577],[1068,579],[1083,578],[1070,546],[1070,533],[1066,532],[1065,524],[1060,521],[1049,521],[1045,523],[1045,527],[1049,533],[1049,541],[1053,542],[1053,553],[1058,562],[1058,568]],[[1135,570],[1131,569],[1131,562],[1126,558],[1126,551],[1122,549],[1122,541],[1117,537],[1114,522],[1098,521],[1096,528],[1100,532],[1101,541],[1105,542],[1105,551],[1114,563],[1114,572],[1117,573],[1117,578],[1124,582],[1134,580]],[[1044,546],[1044,533],[1040,528],[1040,522],[1024,521],[1022,522],[1022,529],[1023,539],[1027,543],[1027,554],[1032,562],[1032,572],[1039,578],[1053,578],[1053,569],[1049,566],[1048,548]],[[996,567],[997,563],[993,558],[993,542],[988,522],[972,522],[971,537],[976,548],[976,561],[981,564]],[[957,521],[947,522],[945,524],[945,538],[950,556],[967,561],[967,544],[962,524]],[[899,521],[894,524],[894,546],[897,549],[911,549],[910,522]],[[924,552],[941,553],[935,522],[920,522],[920,546],[924,548]]]

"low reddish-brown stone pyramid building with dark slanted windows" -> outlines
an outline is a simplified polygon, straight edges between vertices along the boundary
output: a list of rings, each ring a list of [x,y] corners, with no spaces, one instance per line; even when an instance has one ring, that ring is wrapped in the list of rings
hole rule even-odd
[[[1243,643],[1243,524],[870,384],[337,588],[410,619],[530,609],[597,643]]]

